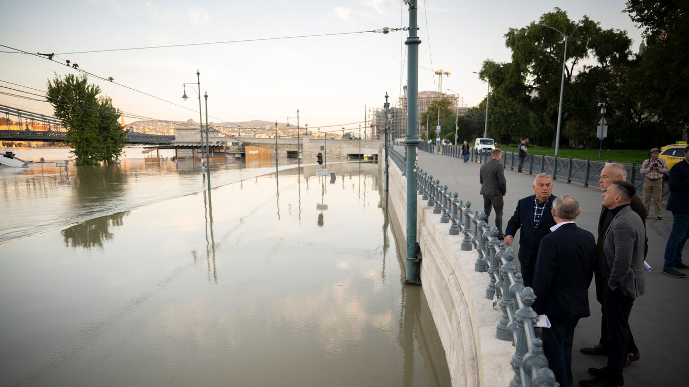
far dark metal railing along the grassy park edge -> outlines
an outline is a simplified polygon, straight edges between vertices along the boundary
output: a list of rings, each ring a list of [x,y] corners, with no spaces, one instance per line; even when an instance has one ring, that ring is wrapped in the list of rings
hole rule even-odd
[[[442,154],[451,157],[462,157],[461,151],[457,152],[453,148],[460,148],[458,146],[444,146],[442,147]],[[484,163],[491,159],[490,149],[477,151],[471,148],[470,159],[472,162]],[[607,162],[610,162],[608,160]],[[505,169],[515,170],[519,166],[519,155],[514,152],[502,153],[502,164]],[[575,159],[574,157],[553,157],[546,155],[526,155],[524,160],[524,173],[529,175],[534,173],[548,173],[553,179],[566,181],[568,183],[575,182],[584,184],[588,187],[589,184],[598,186],[601,170],[606,162],[597,162],[591,159]],[[641,192],[644,186],[644,175],[641,175],[641,164],[636,163],[621,163],[627,169],[627,181]],[[668,197],[670,190],[667,184],[663,184],[663,197]]]

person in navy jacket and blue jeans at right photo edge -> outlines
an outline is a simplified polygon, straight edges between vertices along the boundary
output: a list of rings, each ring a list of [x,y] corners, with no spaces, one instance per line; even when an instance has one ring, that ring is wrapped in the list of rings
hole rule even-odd
[[[672,230],[665,246],[663,272],[668,276],[686,278],[677,269],[689,269],[682,263],[682,250],[689,239],[689,146],[684,149],[684,159],[670,169],[670,199],[668,210],[672,211]]]

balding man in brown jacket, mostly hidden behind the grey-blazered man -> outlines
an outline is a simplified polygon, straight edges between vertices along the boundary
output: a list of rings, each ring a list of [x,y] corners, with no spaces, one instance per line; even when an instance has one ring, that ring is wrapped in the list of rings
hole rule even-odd
[[[619,163],[608,163],[601,170],[601,177],[598,180],[598,185],[601,191],[605,192],[613,181],[627,179],[627,169],[623,164]],[[648,238],[646,238],[646,209],[644,208],[644,203],[638,195],[632,195],[629,207],[633,212],[636,212],[641,219],[641,223],[644,223],[644,258],[648,253]],[[601,337],[598,340],[598,344],[591,347],[585,347],[580,349],[582,353],[586,355],[606,355],[608,353],[608,333],[607,333],[607,318],[606,310],[603,305],[603,293],[606,287],[608,272],[605,268],[605,254],[604,254],[604,240],[605,234],[610,227],[610,222],[613,221],[613,215],[606,206],[602,206],[601,214],[598,219],[598,241],[596,243],[597,250],[597,261],[594,270],[594,278],[596,281],[596,300],[601,305]],[[634,336],[632,331],[629,331],[628,347],[627,347],[627,360],[624,366],[628,366],[632,362],[636,362],[641,359],[641,353],[637,344],[634,341]]]

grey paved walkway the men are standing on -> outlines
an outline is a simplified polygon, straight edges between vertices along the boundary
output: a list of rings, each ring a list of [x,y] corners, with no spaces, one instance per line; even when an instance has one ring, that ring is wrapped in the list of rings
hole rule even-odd
[[[404,154],[404,147],[395,146]],[[429,171],[440,179],[449,190],[459,192],[460,199],[471,201],[473,210],[483,210],[483,198],[479,194],[479,168],[482,164],[462,163],[462,159],[419,151],[420,168]],[[507,195],[503,215],[504,227],[512,216],[517,200],[533,195],[533,175],[519,175],[505,170]],[[555,181],[554,195],[572,195],[579,201],[582,214],[577,225],[595,236],[601,210],[601,191],[597,186],[584,187],[582,184],[567,184]],[[651,204],[651,206],[653,206]],[[440,216],[440,215],[438,215]],[[491,224],[495,218],[491,214]],[[662,273],[663,255],[667,236],[672,228],[672,213],[663,210],[663,220],[647,219],[648,256],[646,261],[653,267],[646,275],[646,294],[638,298],[630,316],[630,326],[641,360],[624,369],[625,386],[686,386],[689,384],[689,366],[685,364],[689,354],[689,339],[685,330],[689,322],[687,292],[689,279],[673,278]],[[513,247],[518,249],[518,235]],[[689,261],[689,244],[684,254]],[[688,273],[689,274],[689,273]],[[486,278],[487,280],[487,278]],[[589,289],[591,316],[579,321],[574,337],[572,372],[574,382],[589,379],[589,367],[605,365],[606,357],[584,355],[579,352],[582,346],[597,344],[600,334],[600,305],[595,299],[595,285]]]

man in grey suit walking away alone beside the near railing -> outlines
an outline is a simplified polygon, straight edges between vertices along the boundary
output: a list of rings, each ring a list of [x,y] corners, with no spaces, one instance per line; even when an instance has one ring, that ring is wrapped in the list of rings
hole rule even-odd
[[[498,239],[503,239],[502,234],[502,208],[504,207],[503,197],[507,193],[507,181],[505,180],[505,167],[500,164],[502,151],[495,148],[491,151],[491,161],[483,164],[479,170],[479,181],[481,183],[480,194],[483,195],[483,208],[486,212],[486,223],[491,216],[491,207],[495,210],[495,227],[499,234]]]

